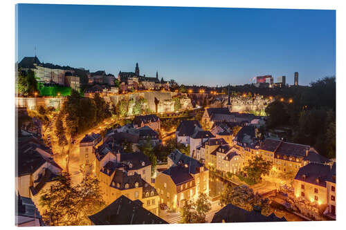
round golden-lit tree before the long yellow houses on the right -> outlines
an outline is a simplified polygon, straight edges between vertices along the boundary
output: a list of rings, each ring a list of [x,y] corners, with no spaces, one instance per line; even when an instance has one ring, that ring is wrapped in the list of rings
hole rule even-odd
[[[262,156],[248,160],[248,165],[244,167],[244,172],[253,182],[258,183],[262,179],[262,175],[269,175],[273,163],[263,160]]]

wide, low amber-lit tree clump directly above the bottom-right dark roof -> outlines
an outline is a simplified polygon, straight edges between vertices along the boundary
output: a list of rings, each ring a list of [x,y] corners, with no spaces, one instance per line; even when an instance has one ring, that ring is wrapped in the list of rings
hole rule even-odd
[[[253,193],[246,185],[241,186],[226,186],[226,189],[221,193],[219,201],[220,206],[233,204],[247,211],[253,211],[253,207],[257,206],[262,209],[263,215],[271,213],[271,207],[268,199],[262,199],[258,193]]]

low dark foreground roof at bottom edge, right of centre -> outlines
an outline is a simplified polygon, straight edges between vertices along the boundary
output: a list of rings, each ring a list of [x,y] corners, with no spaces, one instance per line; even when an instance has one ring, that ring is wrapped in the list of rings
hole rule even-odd
[[[233,204],[227,204],[226,207],[215,213],[212,223],[221,222],[284,222],[285,218],[278,218],[274,213],[271,215],[262,215],[259,211],[247,211]]]

